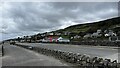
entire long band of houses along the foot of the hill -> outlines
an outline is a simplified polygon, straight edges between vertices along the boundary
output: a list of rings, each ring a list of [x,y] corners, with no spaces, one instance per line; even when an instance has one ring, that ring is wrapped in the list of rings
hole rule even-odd
[[[120,32],[119,32],[120,33]],[[50,42],[57,40],[58,38],[73,40],[73,39],[88,39],[88,38],[99,38],[99,37],[108,37],[108,40],[119,40],[119,34],[116,34],[112,30],[104,30],[98,29],[94,33],[86,33],[83,36],[72,33],[72,32],[45,32],[45,33],[39,33],[32,36],[24,36],[22,38],[18,38],[20,42],[40,42],[41,40],[49,40]],[[116,38],[116,39],[115,39]]]

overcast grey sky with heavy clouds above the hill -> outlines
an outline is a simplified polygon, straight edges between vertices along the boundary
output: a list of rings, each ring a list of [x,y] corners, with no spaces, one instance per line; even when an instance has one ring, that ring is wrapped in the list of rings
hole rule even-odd
[[[117,2],[1,2],[0,40],[118,16]]]

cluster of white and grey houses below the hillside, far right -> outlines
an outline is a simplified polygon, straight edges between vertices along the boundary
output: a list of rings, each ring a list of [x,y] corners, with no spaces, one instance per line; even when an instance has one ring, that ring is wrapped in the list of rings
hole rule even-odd
[[[107,37],[109,41],[120,41],[120,31],[118,33],[115,33],[112,30],[105,30],[102,32],[102,30],[97,30],[97,32],[93,34],[86,34],[84,35],[84,39],[87,38],[98,38],[98,37]]]

